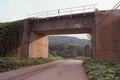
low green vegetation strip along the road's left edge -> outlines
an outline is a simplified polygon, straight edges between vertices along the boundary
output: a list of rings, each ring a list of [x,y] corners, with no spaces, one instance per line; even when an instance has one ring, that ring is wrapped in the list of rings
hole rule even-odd
[[[0,72],[10,71],[21,67],[43,64],[55,60],[62,59],[61,57],[50,56],[48,58],[13,58],[13,57],[0,57]]]

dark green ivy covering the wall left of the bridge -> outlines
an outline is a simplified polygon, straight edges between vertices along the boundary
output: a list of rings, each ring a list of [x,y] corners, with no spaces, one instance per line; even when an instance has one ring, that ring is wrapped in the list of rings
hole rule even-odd
[[[12,56],[22,39],[22,21],[0,24],[0,56]]]

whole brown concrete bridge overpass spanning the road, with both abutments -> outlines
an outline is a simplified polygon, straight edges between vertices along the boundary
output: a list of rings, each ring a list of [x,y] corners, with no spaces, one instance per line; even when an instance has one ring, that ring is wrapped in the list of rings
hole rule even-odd
[[[120,38],[115,37],[120,33],[115,29],[120,26],[120,17],[109,14],[108,18],[104,19],[108,15],[108,10],[98,11],[94,5],[94,11],[88,10],[86,12],[85,7],[83,8],[84,12],[80,13],[60,15],[60,10],[57,10],[58,15],[55,16],[48,16],[47,14],[47,17],[26,19],[23,27],[20,56],[29,58],[48,57],[48,35],[81,33],[92,35],[92,57],[113,59],[113,56],[120,56],[120,49],[113,47],[113,45],[120,46]],[[100,23],[101,21],[103,22]],[[118,44],[113,43],[111,34],[114,35]],[[117,53],[115,54],[114,51]],[[119,58],[114,59],[118,60]]]

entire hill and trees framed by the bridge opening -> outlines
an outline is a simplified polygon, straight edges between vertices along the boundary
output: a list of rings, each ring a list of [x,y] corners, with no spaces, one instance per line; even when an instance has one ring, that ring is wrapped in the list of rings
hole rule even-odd
[[[69,51],[70,49],[68,49],[68,47],[71,45],[74,46],[74,49]],[[90,46],[86,49],[86,45],[90,45],[89,40],[67,36],[49,36],[49,53],[51,55],[56,52],[58,56],[62,57],[88,56],[90,53]]]

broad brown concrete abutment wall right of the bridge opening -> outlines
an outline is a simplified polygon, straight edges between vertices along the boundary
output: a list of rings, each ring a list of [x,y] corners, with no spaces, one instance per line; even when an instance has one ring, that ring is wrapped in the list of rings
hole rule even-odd
[[[120,61],[120,17],[114,14],[96,14],[96,57]]]

